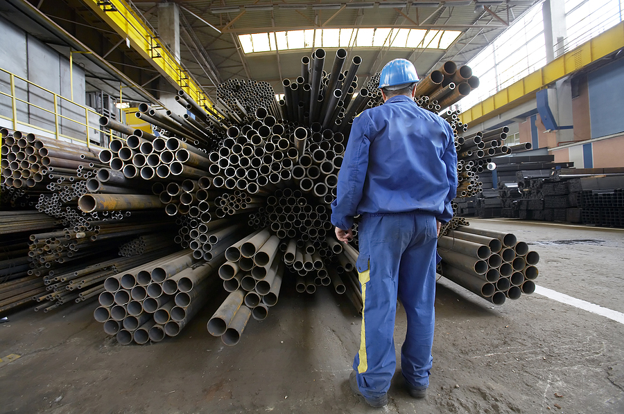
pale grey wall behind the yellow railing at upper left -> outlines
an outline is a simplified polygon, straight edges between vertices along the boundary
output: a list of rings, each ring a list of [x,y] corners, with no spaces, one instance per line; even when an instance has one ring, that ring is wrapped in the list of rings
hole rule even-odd
[[[3,50],[0,51],[0,67],[26,78],[31,82],[58,93],[65,98],[71,97],[69,59],[50,46],[28,35],[24,30],[0,17],[0,33],[3,34]],[[10,93],[10,77],[0,73],[0,89]],[[15,82],[17,98],[31,102],[50,111],[54,110],[54,98],[49,92],[26,84]],[[85,105],[85,73],[78,65],[73,65],[73,100]],[[69,102],[58,102],[58,111],[63,116],[80,120],[84,123],[84,110]],[[0,115],[12,118],[11,101],[7,96],[0,96]],[[28,107],[25,103],[17,104],[17,119],[54,131],[54,116],[43,109]],[[7,120],[0,120],[1,125],[11,127]],[[76,138],[85,138],[85,127],[60,118],[60,132]],[[30,130],[27,127],[21,128]]]

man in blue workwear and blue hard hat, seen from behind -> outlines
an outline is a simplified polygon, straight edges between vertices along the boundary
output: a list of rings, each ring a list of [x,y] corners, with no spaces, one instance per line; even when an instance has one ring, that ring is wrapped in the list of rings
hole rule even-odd
[[[451,126],[416,105],[414,65],[395,59],[383,67],[384,104],[353,122],[331,204],[331,223],[342,242],[352,240],[354,216],[360,254],[356,263],[363,301],[360,348],[349,377],[356,395],[375,407],[388,403],[395,374],[398,298],[407,315],[401,372],[412,397],[426,396],[433,357],[435,265],[440,224],[453,217],[457,153]]]

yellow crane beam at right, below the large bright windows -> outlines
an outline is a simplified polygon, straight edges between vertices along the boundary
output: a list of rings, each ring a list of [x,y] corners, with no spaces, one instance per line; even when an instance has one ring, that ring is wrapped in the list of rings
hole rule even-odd
[[[483,123],[535,98],[535,93],[540,89],[548,87],[549,84],[553,84],[621,48],[624,48],[624,22],[606,30],[572,51],[564,53],[541,69],[462,112],[460,120],[462,123],[468,124],[468,127]]]

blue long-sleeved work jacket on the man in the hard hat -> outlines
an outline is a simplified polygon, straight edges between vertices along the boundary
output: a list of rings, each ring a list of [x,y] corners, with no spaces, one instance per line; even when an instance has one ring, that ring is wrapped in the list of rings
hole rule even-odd
[[[408,96],[363,111],[353,121],[331,223],[347,230],[358,214],[415,210],[449,222],[457,193],[453,140],[447,121]]]

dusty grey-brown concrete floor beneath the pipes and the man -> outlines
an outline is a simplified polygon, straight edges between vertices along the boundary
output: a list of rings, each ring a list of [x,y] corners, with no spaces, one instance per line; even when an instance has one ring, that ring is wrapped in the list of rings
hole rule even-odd
[[[471,220],[510,231],[541,256],[538,285],[624,312],[624,231]],[[428,397],[401,387],[370,408],[347,384],[360,320],[320,289],[286,284],[266,321],[239,345],[210,336],[216,308],[180,336],[121,346],[92,318],[95,303],[31,309],[0,324],[0,413],[624,413],[624,325],[532,294],[500,307],[442,278]],[[395,341],[402,343],[399,310]],[[398,353],[397,353],[398,357]]]

